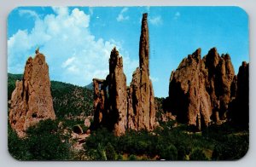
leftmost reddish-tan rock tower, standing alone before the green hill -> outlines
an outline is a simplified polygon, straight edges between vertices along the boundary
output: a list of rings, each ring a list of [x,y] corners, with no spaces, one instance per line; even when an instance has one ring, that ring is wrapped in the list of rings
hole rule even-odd
[[[49,69],[43,54],[26,61],[24,77],[12,93],[9,123],[20,137],[40,120],[55,119],[50,93]]]

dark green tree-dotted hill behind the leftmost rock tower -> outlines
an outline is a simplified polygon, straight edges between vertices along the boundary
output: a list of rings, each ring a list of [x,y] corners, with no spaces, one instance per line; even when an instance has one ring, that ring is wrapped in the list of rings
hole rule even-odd
[[[8,73],[8,100],[15,89],[16,80],[21,80],[22,74]],[[51,95],[53,97],[55,114],[63,118],[72,115],[91,115],[93,113],[93,91],[70,83],[51,81]]]

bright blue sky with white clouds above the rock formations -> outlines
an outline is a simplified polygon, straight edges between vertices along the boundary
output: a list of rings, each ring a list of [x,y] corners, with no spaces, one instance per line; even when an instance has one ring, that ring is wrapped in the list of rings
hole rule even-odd
[[[40,47],[51,80],[84,86],[106,78],[116,46],[130,84],[145,12],[155,96],[168,95],[172,70],[195,49],[202,56],[212,47],[229,53],[236,73],[241,61],[249,61],[247,14],[237,7],[23,7],[9,14],[8,72],[23,73],[26,59]]]

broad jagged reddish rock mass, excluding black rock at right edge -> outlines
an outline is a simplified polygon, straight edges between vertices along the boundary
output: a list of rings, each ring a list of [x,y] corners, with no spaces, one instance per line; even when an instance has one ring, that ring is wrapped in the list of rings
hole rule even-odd
[[[201,59],[201,49],[197,49],[172,72],[170,110],[177,114],[177,120],[199,130],[212,120],[225,120],[234,95],[231,90],[236,89],[234,76],[230,55],[219,56],[213,48]]]

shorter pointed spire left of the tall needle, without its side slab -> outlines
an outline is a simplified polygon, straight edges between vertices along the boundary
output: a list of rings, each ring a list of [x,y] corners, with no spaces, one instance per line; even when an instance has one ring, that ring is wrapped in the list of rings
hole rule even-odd
[[[123,71],[123,59],[113,48],[109,59],[108,75],[109,113],[115,135],[125,134],[127,126],[126,77]]]

